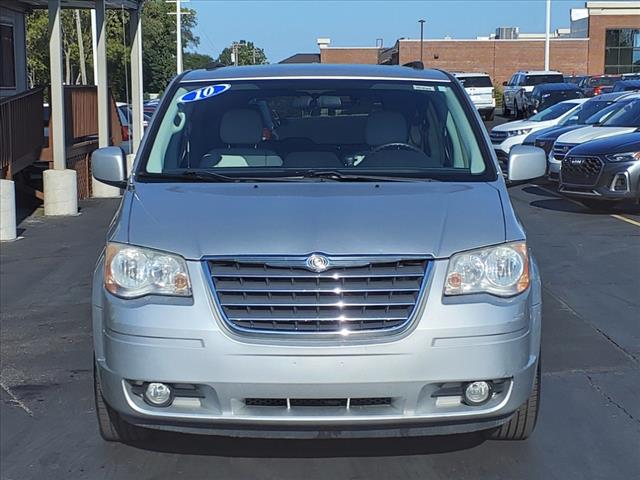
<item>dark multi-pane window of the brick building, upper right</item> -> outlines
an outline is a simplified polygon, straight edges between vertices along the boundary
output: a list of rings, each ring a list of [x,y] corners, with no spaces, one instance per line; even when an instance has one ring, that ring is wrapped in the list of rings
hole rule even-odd
[[[604,50],[604,73],[640,72],[640,29],[607,30]]]

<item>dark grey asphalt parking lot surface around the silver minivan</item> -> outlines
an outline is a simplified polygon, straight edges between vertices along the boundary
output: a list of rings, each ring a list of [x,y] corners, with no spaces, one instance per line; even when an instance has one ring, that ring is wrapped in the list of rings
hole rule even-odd
[[[503,120],[498,120],[503,121]],[[631,479],[640,472],[640,214],[551,185],[511,190],[544,284],[542,410],[525,442],[477,435],[104,443],[91,383],[90,275],[117,207],[27,218],[0,247],[2,479]]]

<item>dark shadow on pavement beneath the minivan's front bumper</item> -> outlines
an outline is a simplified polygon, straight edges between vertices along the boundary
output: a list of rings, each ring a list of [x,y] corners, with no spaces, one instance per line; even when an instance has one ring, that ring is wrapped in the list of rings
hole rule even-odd
[[[433,437],[280,440],[227,438],[153,432],[143,450],[186,455],[247,458],[331,458],[427,455],[474,448],[485,441],[481,433]]]

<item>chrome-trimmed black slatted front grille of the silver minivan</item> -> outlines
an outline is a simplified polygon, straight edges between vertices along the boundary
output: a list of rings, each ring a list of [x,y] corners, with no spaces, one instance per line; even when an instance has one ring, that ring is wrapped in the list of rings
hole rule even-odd
[[[314,272],[307,258],[209,260],[227,324],[248,333],[398,330],[411,318],[428,266],[426,258],[336,257]]]

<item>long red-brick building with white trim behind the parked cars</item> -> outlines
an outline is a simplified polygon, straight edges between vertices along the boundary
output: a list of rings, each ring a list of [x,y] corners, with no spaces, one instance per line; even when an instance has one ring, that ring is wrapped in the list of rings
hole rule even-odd
[[[504,30],[504,29],[499,29]],[[495,83],[518,70],[544,68],[544,34],[477,39],[426,39],[426,66],[487,72]],[[320,44],[321,63],[404,64],[420,59],[420,40],[399,39],[391,48]],[[553,32],[550,67],[567,75],[640,72],[640,1],[586,2],[571,11],[571,27]]]

